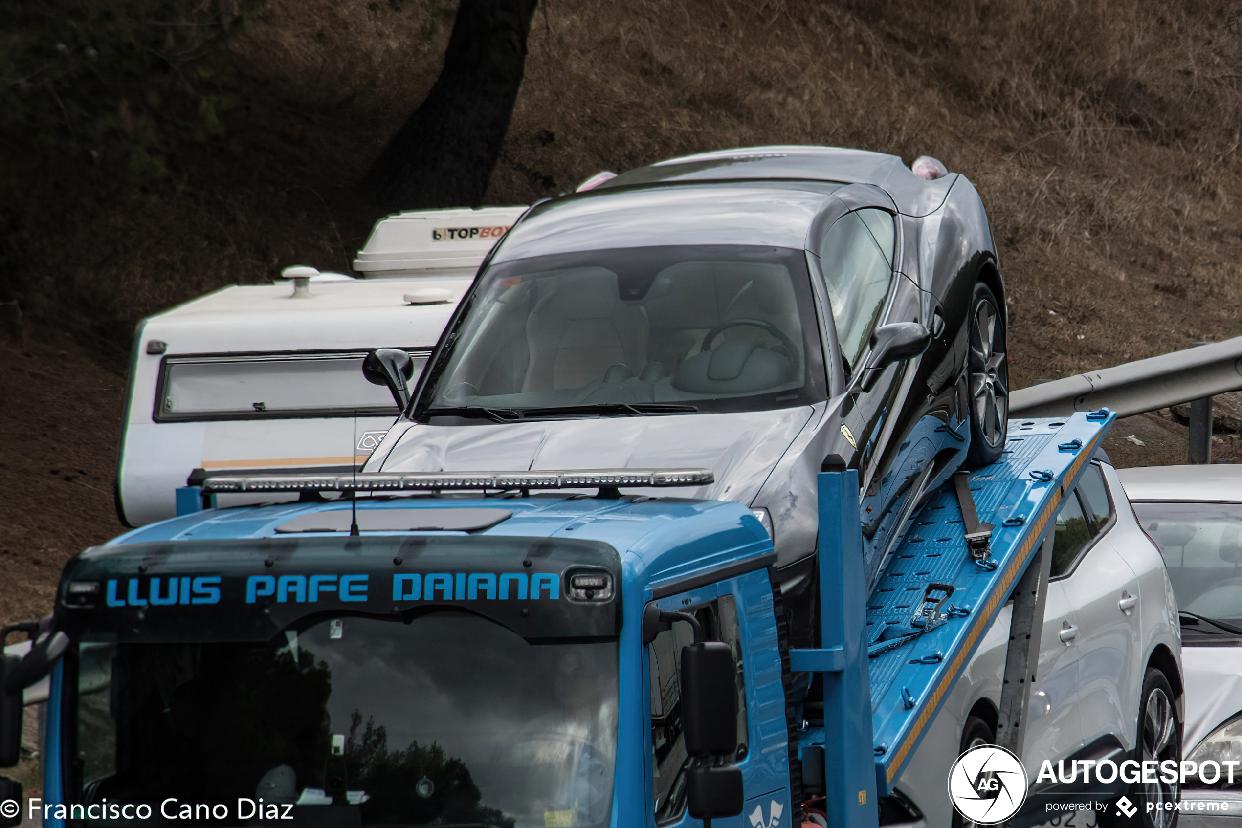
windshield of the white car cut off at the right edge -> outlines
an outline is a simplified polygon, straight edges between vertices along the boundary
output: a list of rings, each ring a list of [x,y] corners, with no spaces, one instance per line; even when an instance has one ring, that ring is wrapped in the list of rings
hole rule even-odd
[[[1164,554],[1177,607],[1242,621],[1242,504],[1149,500],[1134,511]]]

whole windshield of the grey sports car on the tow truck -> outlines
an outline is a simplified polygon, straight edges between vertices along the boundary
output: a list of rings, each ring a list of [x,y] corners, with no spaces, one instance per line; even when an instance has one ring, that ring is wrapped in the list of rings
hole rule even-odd
[[[479,277],[447,341],[420,415],[753,411],[823,398],[801,250],[636,247],[502,262]]]

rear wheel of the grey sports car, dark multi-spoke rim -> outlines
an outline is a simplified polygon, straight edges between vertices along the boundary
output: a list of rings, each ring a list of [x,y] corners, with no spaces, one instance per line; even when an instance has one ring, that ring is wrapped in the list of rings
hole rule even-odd
[[[975,283],[966,328],[970,335],[966,355],[970,453],[966,463],[977,468],[1001,458],[1009,421],[1009,331],[996,294],[982,282]]]

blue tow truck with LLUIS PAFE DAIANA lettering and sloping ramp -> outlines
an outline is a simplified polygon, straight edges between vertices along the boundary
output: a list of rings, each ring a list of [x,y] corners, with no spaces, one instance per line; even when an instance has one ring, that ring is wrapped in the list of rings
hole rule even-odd
[[[676,497],[700,469],[209,478],[5,628],[35,643],[0,670],[0,766],[22,688],[51,689],[42,796],[0,824],[874,827],[1001,607],[1042,612],[1043,541],[1112,420],[1011,422],[869,595],[857,472],[822,472],[810,648],[756,516]],[[262,490],[302,495],[204,508]]]

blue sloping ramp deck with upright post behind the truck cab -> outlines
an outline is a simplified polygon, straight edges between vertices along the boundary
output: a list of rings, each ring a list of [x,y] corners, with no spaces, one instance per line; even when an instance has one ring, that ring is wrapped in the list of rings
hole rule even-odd
[[[1002,459],[969,477],[979,520],[995,526],[989,564],[968,550],[950,484],[920,509],[864,601],[857,523],[836,518],[857,499],[856,472],[820,475],[822,649],[790,657],[792,669],[825,674],[825,726],[802,745],[826,749],[830,824],[876,824],[867,802],[892,793],[1113,418],[1105,408],[1010,421]],[[924,607],[935,618],[925,632],[912,623]]]

